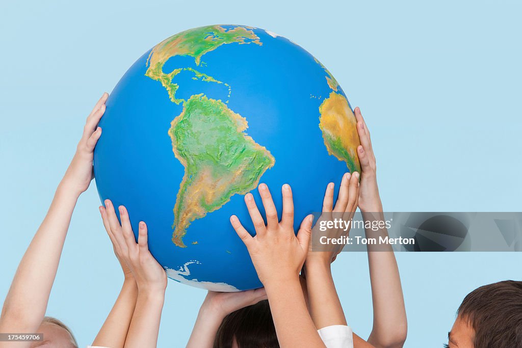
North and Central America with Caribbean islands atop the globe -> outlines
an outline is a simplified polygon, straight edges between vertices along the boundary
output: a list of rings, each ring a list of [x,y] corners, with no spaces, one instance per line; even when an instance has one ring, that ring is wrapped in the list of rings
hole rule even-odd
[[[192,71],[196,78],[201,78],[207,82],[223,83],[215,78],[200,73],[193,68],[176,68],[170,73],[163,72],[163,65],[169,58],[174,56],[194,57],[196,65],[201,62],[201,57],[219,46],[228,43],[248,44],[255,43],[262,45],[259,37],[250,29],[236,26],[232,29],[225,29],[221,26],[207,26],[189,29],[157,44],[149,54],[147,59],[148,69],[146,76],[161,82],[161,85],[169,93],[170,100],[176,104],[183,102],[183,99],[176,98],[176,91],[179,88],[177,83],[172,80],[183,70]],[[229,87],[226,83],[225,86]]]

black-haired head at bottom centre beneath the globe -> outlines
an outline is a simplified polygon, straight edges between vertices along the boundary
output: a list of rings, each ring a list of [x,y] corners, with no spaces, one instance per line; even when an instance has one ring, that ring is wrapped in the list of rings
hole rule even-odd
[[[236,310],[221,323],[214,348],[279,348],[268,300]]]

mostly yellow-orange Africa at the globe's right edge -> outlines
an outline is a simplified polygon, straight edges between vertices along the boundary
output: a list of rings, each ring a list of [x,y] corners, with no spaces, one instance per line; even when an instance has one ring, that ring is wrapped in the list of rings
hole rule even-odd
[[[360,172],[361,164],[356,153],[360,145],[357,120],[346,97],[331,92],[319,106],[319,114],[319,128],[323,131],[328,153],[339,161],[345,161],[351,173]]]

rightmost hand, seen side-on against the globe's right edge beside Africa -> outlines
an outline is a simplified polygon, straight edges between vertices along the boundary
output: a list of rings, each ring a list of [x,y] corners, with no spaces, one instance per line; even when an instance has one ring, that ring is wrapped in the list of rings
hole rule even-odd
[[[357,155],[361,163],[361,190],[359,197],[359,209],[361,212],[380,212],[383,210],[379,189],[377,188],[377,176],[375,174],[375,155],[373,154],[370,131],[362,118],[361,110],[355,107],[357,119],[357,133],[361,145],[357,147]]]

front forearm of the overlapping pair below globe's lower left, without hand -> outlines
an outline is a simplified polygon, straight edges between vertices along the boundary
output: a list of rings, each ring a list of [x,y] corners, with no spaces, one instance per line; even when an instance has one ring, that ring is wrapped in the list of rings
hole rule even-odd
[[[156,348],[165,292],[139,292],[125,340],[126,348]]]

